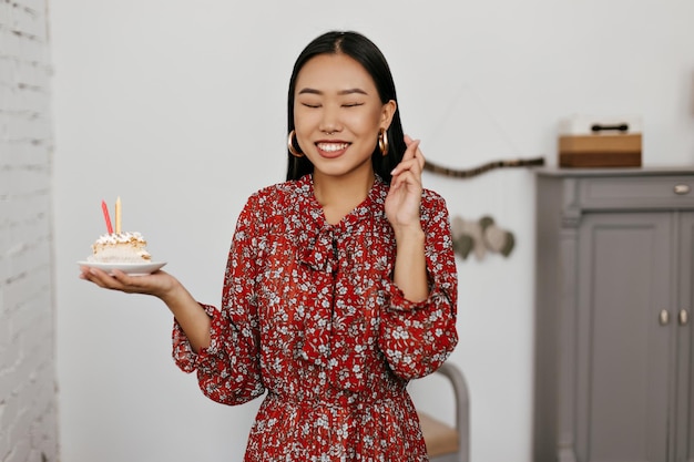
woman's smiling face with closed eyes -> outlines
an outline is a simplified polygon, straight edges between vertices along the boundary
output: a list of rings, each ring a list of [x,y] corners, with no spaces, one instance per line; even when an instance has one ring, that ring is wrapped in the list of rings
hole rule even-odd
[[[374,80],[346,54],[319,54],[298,73],[296,140],[314,165],[314,177],[372,175],[371,154],[388,129],[395,101],[381,103]]]

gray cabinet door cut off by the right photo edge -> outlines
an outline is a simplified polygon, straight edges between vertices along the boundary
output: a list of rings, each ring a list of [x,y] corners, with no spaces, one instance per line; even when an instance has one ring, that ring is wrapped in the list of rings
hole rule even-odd
[[[674,409],[675,418],[675,461],[694,461],[694,359],[693,320],[694,310],[694,213],[678,215],[678,297],[674,311],[677,319],[677,391]],[[684,310],[686,319],[678,311]]]

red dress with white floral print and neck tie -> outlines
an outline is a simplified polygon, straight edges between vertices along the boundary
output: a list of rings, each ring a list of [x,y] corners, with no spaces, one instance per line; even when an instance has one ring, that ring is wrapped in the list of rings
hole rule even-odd
[[[406,386],[435,371],[458,341],[457,273],[443,199],[425,189],[429,298],[405,299],[377,177],[368,197],[329,225],[310,175],[255,193],[234,234],[212,342],[195,355],[174,324],[174,358],[225,404],[267,392],[246,462],[426,461]]]

